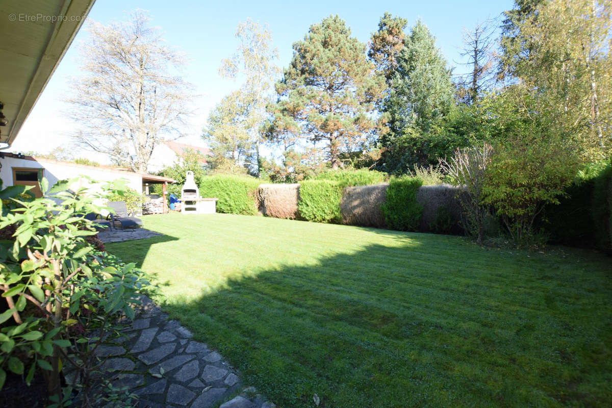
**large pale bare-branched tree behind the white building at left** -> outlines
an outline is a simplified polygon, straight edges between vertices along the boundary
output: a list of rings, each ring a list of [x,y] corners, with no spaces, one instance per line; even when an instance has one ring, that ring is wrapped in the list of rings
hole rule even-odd
[[[127,23],[91,23],[81,46],[84,76],[67,102],[78,125],[76,143],[144,172],[153,149],[182,136],[192,115],[192,86],[178,74],[186,64],[149,26],[143,10]]]

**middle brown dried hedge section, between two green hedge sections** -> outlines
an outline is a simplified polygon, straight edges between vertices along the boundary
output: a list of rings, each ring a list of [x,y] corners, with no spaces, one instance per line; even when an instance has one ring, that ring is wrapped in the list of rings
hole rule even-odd
[[[342,223],[385,228],[381,204],[385,201],[389,183],[346,187],[340,201]]]

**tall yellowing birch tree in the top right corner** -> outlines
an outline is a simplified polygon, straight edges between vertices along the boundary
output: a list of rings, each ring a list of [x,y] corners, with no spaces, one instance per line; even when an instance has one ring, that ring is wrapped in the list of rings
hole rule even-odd
[[[532,90],[542,112],[559,114],[554,126],[581,147],[583,158],[612,152],[612,3],[601,0],[539,2],[515,24],[515,44],[503,48],[507,72]],[[537,18],[536,18],[537,17]],[[502,40],[502,45],[504,44]]]

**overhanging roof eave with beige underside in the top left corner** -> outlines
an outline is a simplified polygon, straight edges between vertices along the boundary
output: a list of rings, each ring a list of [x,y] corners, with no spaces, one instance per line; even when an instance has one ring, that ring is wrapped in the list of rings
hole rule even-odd
[[[12,144],[94,0],[3,1],[0,7],[0,102],[8,124],[0,142]]]

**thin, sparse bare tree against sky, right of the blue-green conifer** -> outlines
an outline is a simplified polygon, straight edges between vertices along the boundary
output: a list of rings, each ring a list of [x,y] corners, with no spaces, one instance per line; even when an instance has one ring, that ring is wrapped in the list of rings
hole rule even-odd
[[[465,95],[460,95],[465,102],[474,103],[482,92],[495,83],[494,48],[496,45],[494,20],[488,19],[476,24],[472,30],[463,29],[462,57],[467,57],[471,72],[459,78],[458,86]]]

